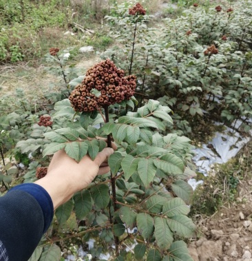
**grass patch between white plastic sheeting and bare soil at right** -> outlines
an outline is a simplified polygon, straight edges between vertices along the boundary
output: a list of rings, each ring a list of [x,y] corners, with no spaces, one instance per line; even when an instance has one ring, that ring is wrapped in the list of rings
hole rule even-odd
[[[247,186],[244,180],[251,179],[251,149],[252,141],[241,150],[238,156],[225,164],[216,165],[209,176],[204,177],[198,174],[198,180],[203,180],[204,183],[194,191],[191,217],[198,214],[211,216],[222,205],[243,202],[240,189]]]

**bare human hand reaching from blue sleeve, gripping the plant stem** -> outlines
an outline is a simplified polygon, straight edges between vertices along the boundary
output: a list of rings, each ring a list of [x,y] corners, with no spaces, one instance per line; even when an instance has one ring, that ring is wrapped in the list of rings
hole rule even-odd
[[[114,149],[116,146],[113,144]],[[76,191],[84,189],[96,177],[109,171],[107,158],[114,152],[105,148],[94,160],[84,156],[79,163],[63,149],[56,152],[48,167],[48,174],[35,183],[41,185],[52,198],[54,209],[69,200]]]

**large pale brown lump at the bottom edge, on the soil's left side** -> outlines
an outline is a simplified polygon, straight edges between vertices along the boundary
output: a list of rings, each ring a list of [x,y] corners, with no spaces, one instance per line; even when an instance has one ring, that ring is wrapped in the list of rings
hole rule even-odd
[[[222,256],[222,241],[207,240],[202,242],[202,245],[197,249],[198,257],[200,261],[213,260],[213,253],[217,257]]]

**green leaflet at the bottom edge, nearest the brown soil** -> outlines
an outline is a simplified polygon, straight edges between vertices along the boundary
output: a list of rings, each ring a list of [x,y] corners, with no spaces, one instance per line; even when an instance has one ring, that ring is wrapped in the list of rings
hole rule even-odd
[[[191,255],[189,255],[187,244],[182,240],[171,244],[171,247],[169,248],[169,257],[174,261],[193,261]]]

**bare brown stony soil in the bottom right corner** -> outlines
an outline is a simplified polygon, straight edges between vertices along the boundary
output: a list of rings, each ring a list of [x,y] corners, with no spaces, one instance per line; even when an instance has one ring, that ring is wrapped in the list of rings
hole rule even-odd
[[[201,218],[199,239],[189,244],[194,261],[252,261],[252,180],[240,182],[233,205]]]

